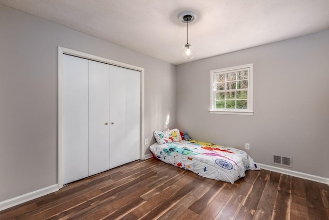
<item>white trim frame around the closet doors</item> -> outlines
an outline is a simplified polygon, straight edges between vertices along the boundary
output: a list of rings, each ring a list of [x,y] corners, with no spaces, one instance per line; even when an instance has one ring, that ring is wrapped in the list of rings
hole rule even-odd
[[[110,65],[140,71],[140,159],[145,159],[144,149],[144,68],[94,56],[92,54],[58,47],[58,188],[63,188],[63,54],[88,60],[98,61]]]

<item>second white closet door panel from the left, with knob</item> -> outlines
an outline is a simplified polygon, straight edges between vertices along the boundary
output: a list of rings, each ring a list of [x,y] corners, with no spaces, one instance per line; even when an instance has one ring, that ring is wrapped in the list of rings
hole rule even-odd
[[[89,176],[109,169],[109,65],[89,61]]]

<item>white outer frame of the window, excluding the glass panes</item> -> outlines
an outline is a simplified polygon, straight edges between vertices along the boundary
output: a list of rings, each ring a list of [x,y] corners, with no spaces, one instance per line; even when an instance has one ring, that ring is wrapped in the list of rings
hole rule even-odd
[[[216,93],[216,79],[215,76],[218,73],[224,74],[231,71],[239,71],[241,69],[248,69],[248,90],[247,90],[247,108],[237,109],[237,108],[216,108],[215,93]],[[232,66],[222,69],[214,69],[210,71],[210,110],[212,114],[231,114],[231,115],[253,115],[253,103],[252,103],[252,88],[253,88],[253,65],[245,64],[240,66]],[[226,88],[223,90],[225,91]]]

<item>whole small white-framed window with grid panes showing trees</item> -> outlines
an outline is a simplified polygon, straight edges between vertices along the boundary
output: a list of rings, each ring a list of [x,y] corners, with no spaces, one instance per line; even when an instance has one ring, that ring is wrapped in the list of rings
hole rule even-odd
[[[252,64],[210,71],[210,113],[252,115]]]

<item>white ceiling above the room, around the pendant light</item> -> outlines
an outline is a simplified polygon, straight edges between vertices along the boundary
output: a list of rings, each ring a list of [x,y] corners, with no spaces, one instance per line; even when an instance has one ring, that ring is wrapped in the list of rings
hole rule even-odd
[[[43,17],[173,64],[186,24],[180,12],[197,15],[189,25],[193,60],[329,29],[329,0],[0,0]],[[192,60],[192,61],[193,61]]]

